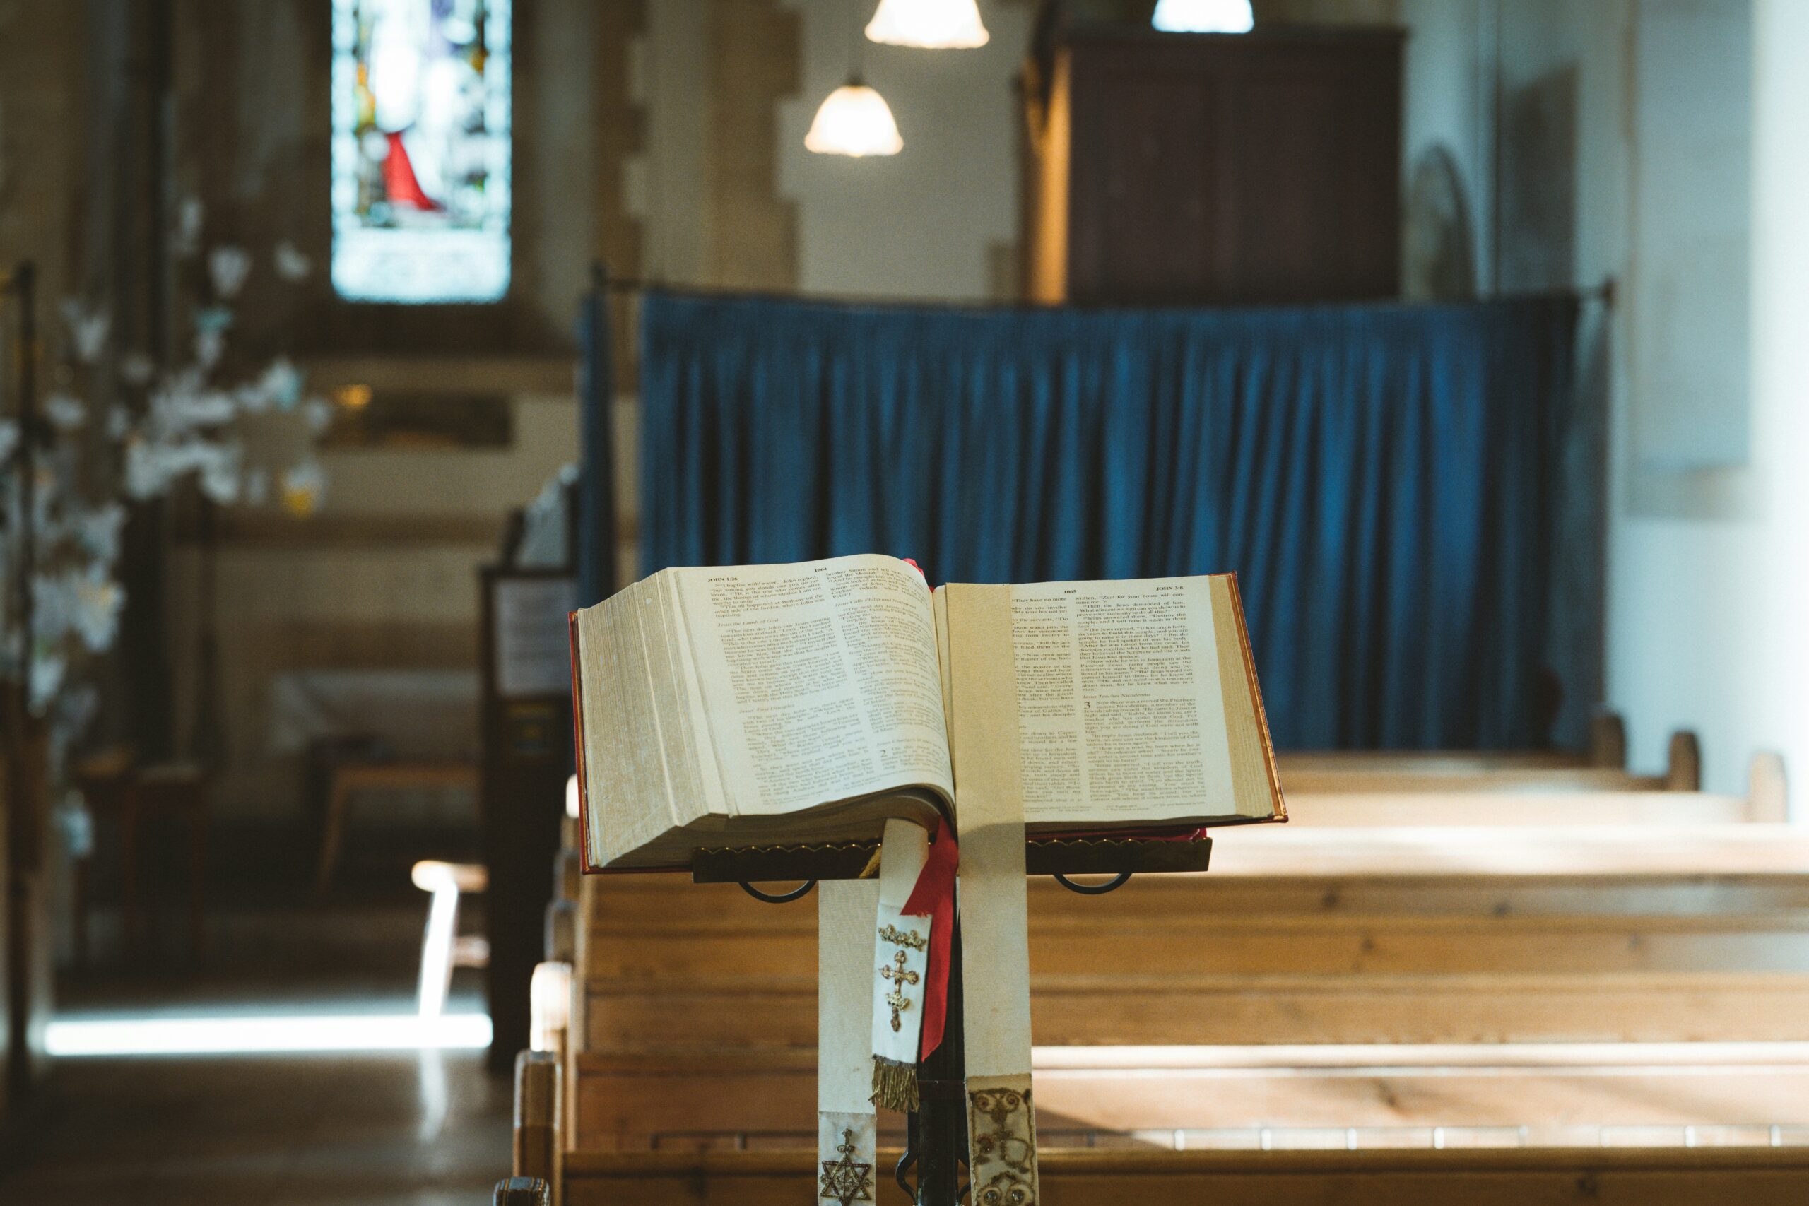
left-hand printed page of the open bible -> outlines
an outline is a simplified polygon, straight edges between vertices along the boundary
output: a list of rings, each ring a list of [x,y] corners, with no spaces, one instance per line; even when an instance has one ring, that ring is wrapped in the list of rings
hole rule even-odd
[[[733,814],[953,799],[930,589],[903,561],[684,570],[678,600]]]

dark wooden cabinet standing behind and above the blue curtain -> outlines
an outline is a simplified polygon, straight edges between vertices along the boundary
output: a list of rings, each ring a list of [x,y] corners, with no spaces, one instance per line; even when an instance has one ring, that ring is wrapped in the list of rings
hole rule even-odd
[[[1395,297],[1402,40],[1306,27],[1062,34],[1026,96],[1028,295]]]

